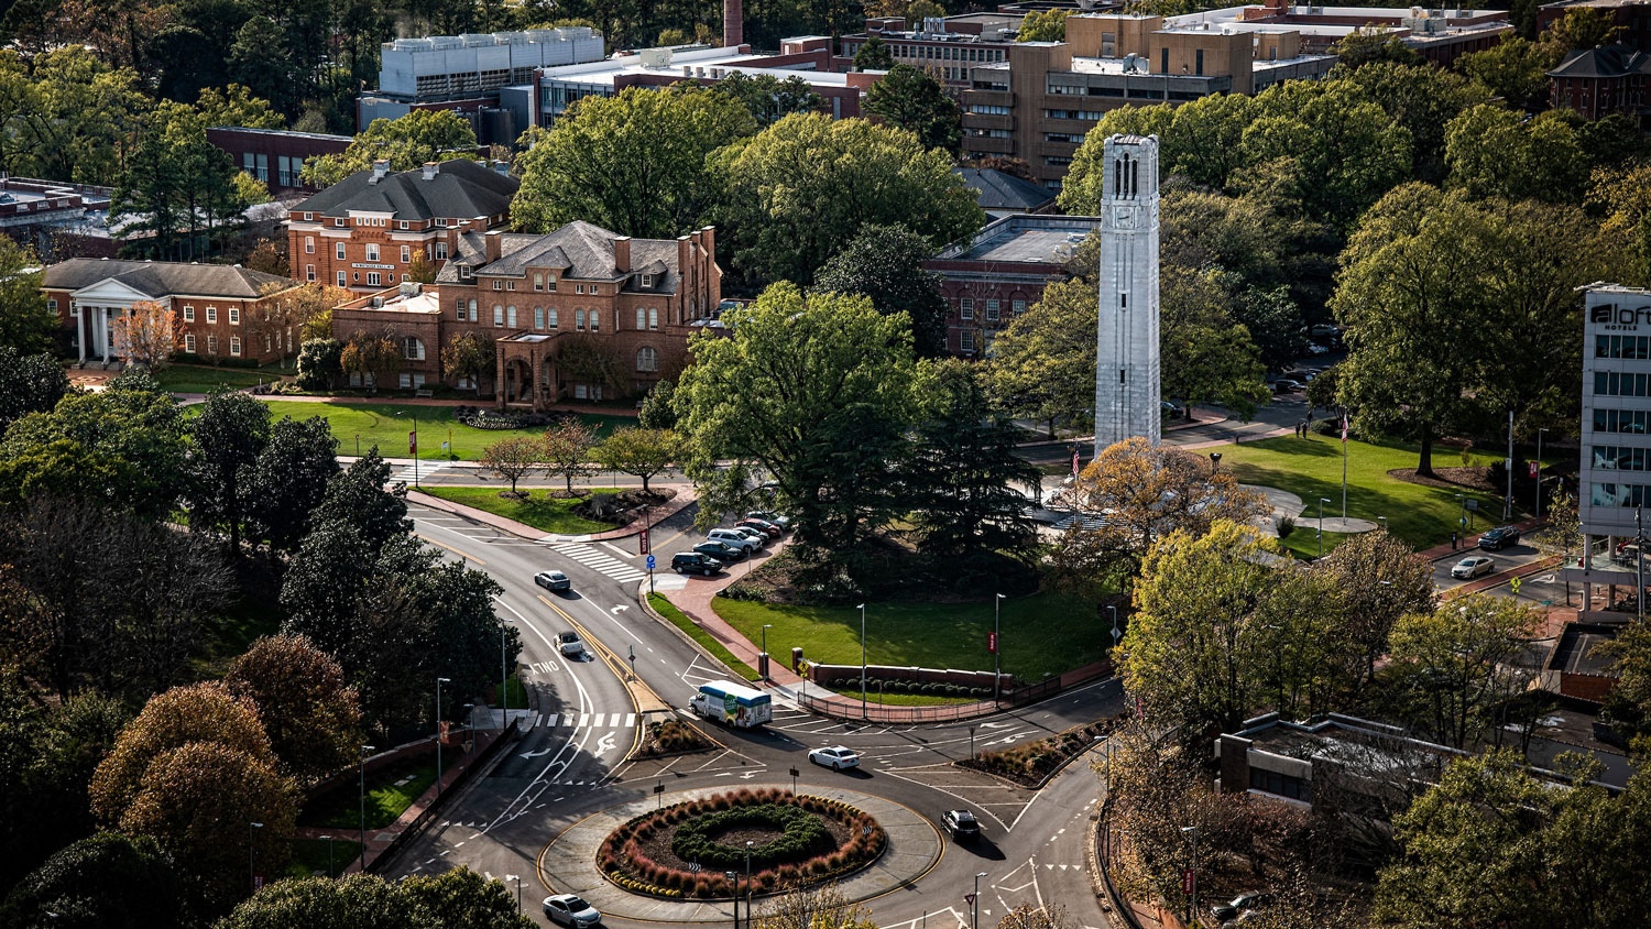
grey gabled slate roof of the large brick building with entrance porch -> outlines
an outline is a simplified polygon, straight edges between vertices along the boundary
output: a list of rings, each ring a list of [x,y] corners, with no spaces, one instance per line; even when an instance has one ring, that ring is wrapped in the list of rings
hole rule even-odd
[[[556,267],[563,277],[575,281],[626,281],[626,290],[641,290],[639,276],[655,276],[649,294],[674,294],[680,269],[677,267],[677,243],[674,239],[631,239],[631,272],[621,274],[614,264],[614,239],[601,226],[575,219],[555,233],[530,236],[500,233],[499,261],[487,264],[487,239],[484,233],[459,236],[457,254],[441,267],[438,284],[459,282],[459,264],[469,264],[471,274],[500,277],[525,277],[528,267]]]

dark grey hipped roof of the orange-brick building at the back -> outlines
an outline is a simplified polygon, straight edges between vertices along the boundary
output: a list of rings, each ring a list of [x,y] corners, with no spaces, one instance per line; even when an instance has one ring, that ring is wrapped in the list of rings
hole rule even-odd
[[[373,182],[373,170],[355,172],[294,210],[322,216],[348,216],[350,210],[395,213],[398,219],[467,219],[495,216],[510,208],[522,182],[469,158],[442,162],[436,177],[424,168],[391,172]]]

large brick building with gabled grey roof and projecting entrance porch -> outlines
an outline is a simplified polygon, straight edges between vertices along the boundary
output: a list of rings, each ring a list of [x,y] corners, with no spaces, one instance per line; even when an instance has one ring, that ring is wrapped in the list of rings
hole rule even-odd
[[[482,391],[499,406],[647,393],[687,363],[687,338],[721,300],[717,233],[632,239],[589,223],[543,236],[464,233],[436,284],[404,284],[334,310],[334,335],[386,333],[401,345],[401,388],[446,381],[441,347],[494,340]],[[490,381],[490,383],[489,383]]]

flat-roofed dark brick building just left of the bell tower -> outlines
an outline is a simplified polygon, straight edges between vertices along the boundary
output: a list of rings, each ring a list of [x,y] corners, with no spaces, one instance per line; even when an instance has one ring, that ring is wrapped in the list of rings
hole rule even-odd
[[[1043,287],[1071,277],[1067,261],[1100,224],[1095,216],[1005,216],[925,261],[946,297],[946,350],[984,356]]]

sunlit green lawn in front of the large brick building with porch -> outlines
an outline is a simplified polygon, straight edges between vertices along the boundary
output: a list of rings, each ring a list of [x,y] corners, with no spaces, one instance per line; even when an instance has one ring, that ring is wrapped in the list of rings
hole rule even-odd
[[[408,455],[408,432],[418,416],[419,454],[423,460],[475,460],[482,449],[512,436],[540,436],[543,426],[528,429],[472,429],[452,417],[451,406],[409,403],[300,403],[291,399],[266,401],[276,419],[291,416],[309,419],[324,416],[338,439],[338,454],[367,454],[378,446],[378,454],[403,459]],[[594,426],[598,436],[608,436],[617,426],[636,426],[636,419],[581,413],[580,421]],[[442,442],[452,442],[452,450]]]

